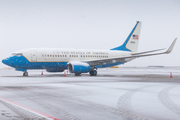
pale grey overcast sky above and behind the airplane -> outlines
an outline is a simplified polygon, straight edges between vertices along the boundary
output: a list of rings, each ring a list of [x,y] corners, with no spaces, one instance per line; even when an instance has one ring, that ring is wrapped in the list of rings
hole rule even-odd
[[[179,39],[169,55],[125,65],[180,66],[179,0],[0,0],[0,60],[26,48],[111,49],[136,21],[142,21],[139,51]]]

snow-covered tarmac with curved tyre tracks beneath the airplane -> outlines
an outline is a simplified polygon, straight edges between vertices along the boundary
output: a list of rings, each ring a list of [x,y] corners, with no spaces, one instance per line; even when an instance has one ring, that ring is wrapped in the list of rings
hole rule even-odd
[[[0,120],[180,119],[179,67],[41,73],[0,70]]]

